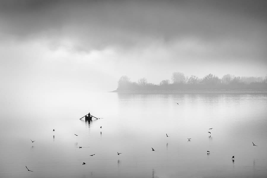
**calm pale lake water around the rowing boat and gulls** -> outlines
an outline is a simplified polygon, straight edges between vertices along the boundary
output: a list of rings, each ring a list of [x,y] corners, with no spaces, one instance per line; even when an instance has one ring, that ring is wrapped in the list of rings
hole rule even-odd
[[[267,176],[266,94],[32,94],[1,106],[2,178]],[[88,112],[103,118],[79,120]]]

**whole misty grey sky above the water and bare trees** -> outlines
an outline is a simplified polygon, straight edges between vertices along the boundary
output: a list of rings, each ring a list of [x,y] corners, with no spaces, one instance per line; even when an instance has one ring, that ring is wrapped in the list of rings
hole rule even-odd
[[[267,74],[267,1],[0,2],[2,93]],[[3,92],[4,91],[4,92]]]

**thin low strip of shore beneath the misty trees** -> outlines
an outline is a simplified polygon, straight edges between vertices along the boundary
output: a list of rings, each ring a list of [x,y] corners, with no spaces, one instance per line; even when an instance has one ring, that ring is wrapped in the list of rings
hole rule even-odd
[[[258,93],[267,94],[267,90],[114,90],[112,93]]]

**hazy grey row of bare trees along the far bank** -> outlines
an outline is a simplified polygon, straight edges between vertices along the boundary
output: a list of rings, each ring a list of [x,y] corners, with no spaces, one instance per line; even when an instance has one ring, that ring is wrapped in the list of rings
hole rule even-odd
[[[203,78],[195,75],[185,76],[182,72],[173,72],[171,81],[162,80],[159,84],[149,83],[141,78],[137,82],[123,75],[118,81],[117,90],[185,90],[185,89],[267,89],[267,75],[265,77],[236,77],[226,74],[219,78],[208,74]]]

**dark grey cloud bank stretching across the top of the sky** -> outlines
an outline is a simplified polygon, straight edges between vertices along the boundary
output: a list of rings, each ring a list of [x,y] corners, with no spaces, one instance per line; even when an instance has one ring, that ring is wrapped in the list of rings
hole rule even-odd
[[[231,3],[230,3],[231,2]],[[1,36],[46,38],[77,51],[195,38],[266,45],[266,2],[4,1]]]

